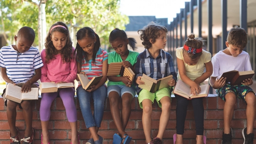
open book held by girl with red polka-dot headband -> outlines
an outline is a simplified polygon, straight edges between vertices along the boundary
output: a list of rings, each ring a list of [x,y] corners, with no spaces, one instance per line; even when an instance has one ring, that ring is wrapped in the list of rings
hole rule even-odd
[[[205,97],[208,96],[209,87],[210,86],[208,84],[200,85],[201,93],[197,94],[196,96],[192,96],[190,86],[184,83],[182,80],[178,80],[178,82],[175,85],[173,93],[179,96],[186,97],[187,99]]]

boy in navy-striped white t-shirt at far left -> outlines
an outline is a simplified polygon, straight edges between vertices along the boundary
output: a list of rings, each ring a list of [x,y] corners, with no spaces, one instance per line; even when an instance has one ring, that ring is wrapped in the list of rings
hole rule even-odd
[[[14,36],[16,45],[5,46],[0,49],[0,71],[3,80],[22,87],[22,92],[27,93],[31,87],[38,87],[37,80],[41,77],[43,62],[37,48],[32,47],[35,32],[32,28],[24,26],[17,36]],[[4,97],[5,89],[3,90]],[[19,129],[16,123],[16,106],[18,103],[4,99],[7,106],[7,119],[10,126],[11,144],[20,144]],[[31,100],[23,100],[19,106],[23,109],[26,122],[23,144],[33,144],[35,129],[32,128]]]

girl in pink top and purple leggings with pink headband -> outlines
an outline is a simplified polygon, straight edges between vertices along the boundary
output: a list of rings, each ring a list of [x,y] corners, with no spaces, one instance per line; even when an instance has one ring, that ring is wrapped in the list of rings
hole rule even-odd
[[[77,78],[77,63],[73,55],[74,50],[67,25],[62,22],[53,24],[46,37],[45,49],[41,52],[44,66],[41,69],[40,81],[74,83]],[[60,96],[63,101],[71,126],[71,144],[79,144],[74,88],[58,89],[58,92],[55,93],[42,93],[40,106],[41,144],[50,144],[48,123],[51,116],[51,103],[57,96]]]

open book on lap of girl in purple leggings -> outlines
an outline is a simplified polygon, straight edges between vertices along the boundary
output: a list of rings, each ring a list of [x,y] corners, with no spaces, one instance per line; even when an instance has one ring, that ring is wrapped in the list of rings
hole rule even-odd
[[[60,83],[60,84],[55,84],[53,82],[42,82],[39,85],[39,89],[41,93],[54,93],[54,92],[57,92],[58,89],[60,88],[72,88],[72,87],[75,87],[72,82]]]

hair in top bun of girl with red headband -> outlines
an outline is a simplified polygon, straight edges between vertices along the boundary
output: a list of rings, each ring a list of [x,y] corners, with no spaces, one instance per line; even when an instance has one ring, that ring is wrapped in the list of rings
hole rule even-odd
[[[203,40],[203,38],[195,38],[195,34],[191,33],[188,36],[188,38],[187,38],[187,40],[185,42],[185,45],[188,46],[188,47],[191,47],[191,48],[196,48],[196,49],[197,48],[202,48],[202,46],[205,45],[205,40]],[[183,48],[182,52],[183,52],[183,54],[184,54],[184,52],[186,52],[188,57],[191,58],[191,60],[194,60],[194,59],[200,57],[203,54],[202,52],[195,53],[195,54],[188,53],[188,51],[185,50],[184,48]]]

